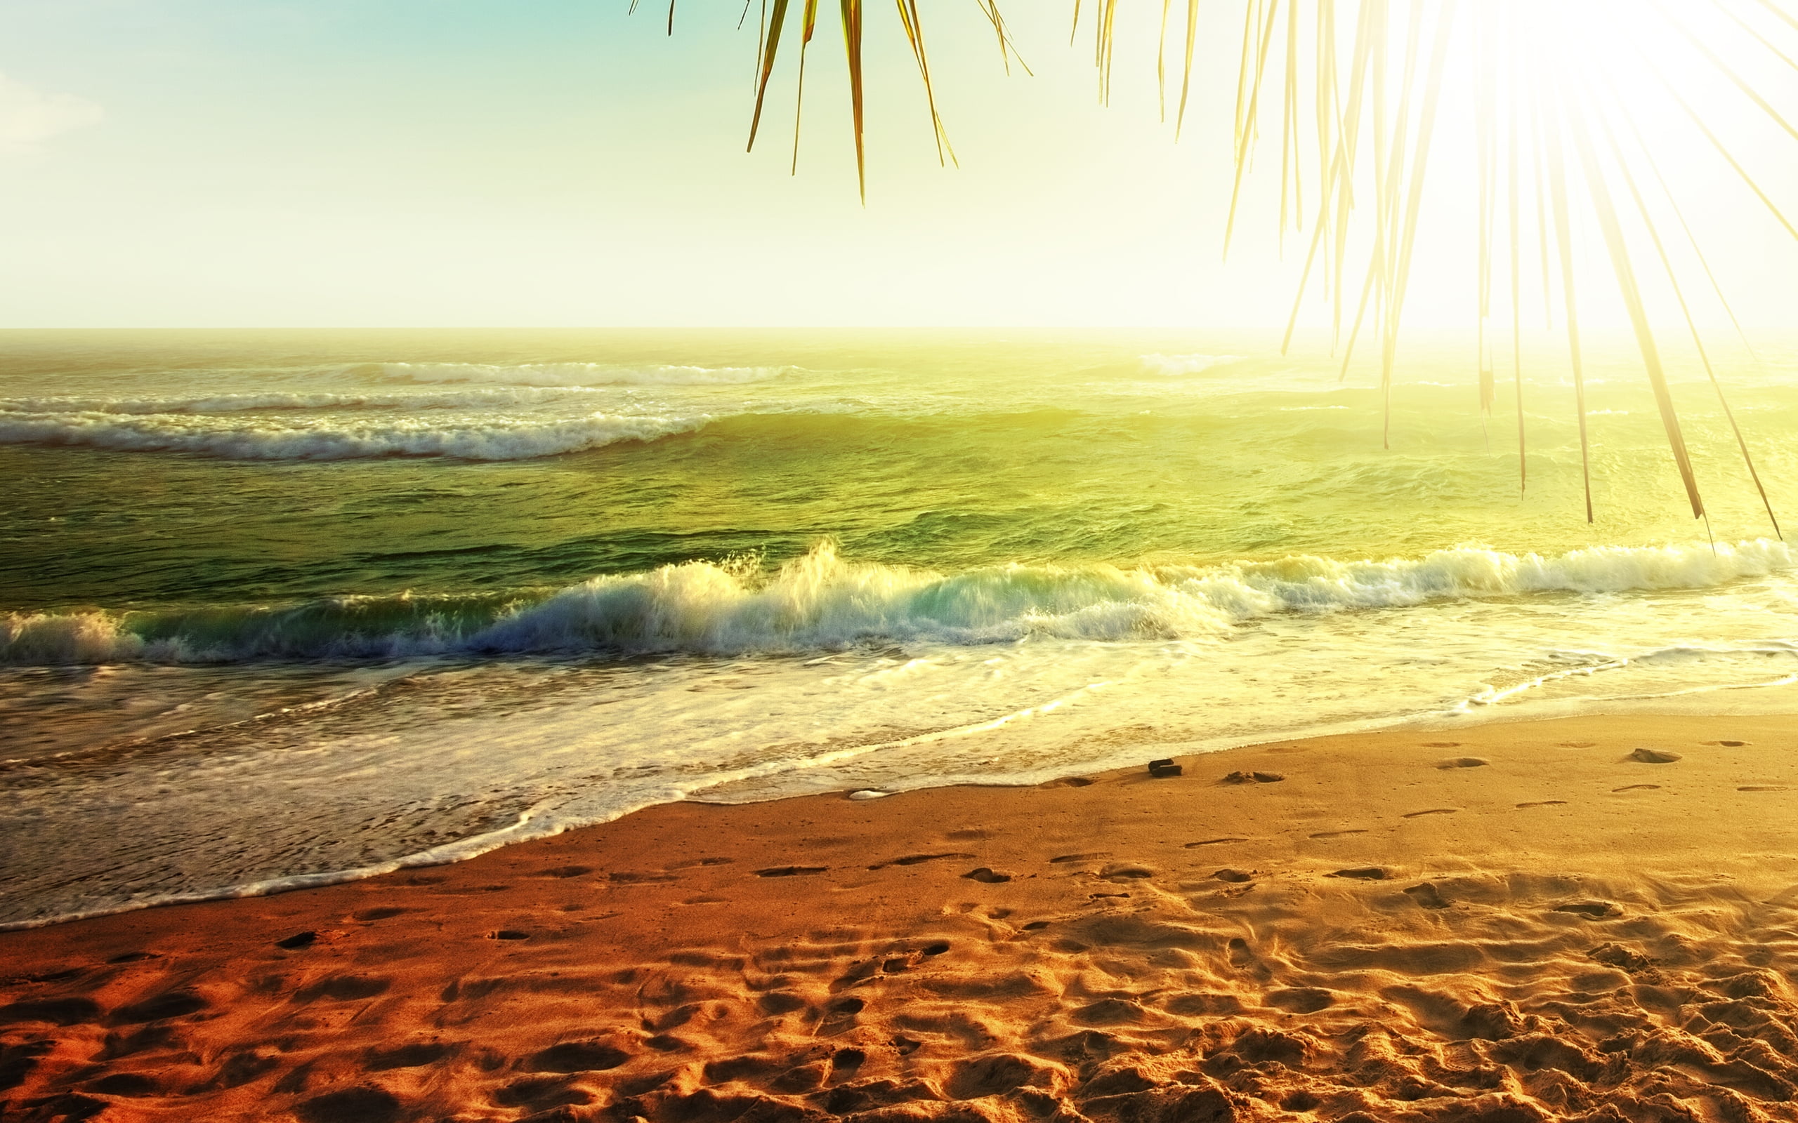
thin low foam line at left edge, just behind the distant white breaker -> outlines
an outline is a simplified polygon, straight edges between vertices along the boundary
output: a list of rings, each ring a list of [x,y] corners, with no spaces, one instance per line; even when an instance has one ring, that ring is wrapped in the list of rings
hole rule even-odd
[[[261,410],[478,410],[536,406],[592,395],[592,386],[491,386],[482,390],[399,393],[203,393],[169,397],[0,397],[5,413],[250,413]]]

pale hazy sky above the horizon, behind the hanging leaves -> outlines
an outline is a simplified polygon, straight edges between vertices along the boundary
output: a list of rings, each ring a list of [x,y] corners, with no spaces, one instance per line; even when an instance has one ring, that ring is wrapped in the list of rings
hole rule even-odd
[[[1307,248],[1304,234],[1282,243],[1277,232],[1277,124],[1264,129],[1223,253],[1244,2],[1201,5],[1197,108],[1176,144],[1154,81],[1160,5],[1120,4],[1102,106],[1088,31],[1068,45],[1072,4],[1005,5],[1034,70],[1025,75],[1016,63],[1005,72],[973,0],[922,0],[958,160],[949,167],[939,165],[899,22],[870,5],[863,207],[831,18],[807,56],[789,174],[789,52],[761,140],[744,153],[757,13],[739,29],[739,0],[683,0],[672,38],[660,0],[636,14],[629,0],[0,0],[0,327],[1277,334]],[[1643,22],[1629,16],[1652,2],[1555,0],[1609,20],[1595,34],[1625,40]],[[1798,119],[1798,72],[1740,29],[1703,25],[1722,18],[1703,14],[1708,5],[1679,11]],[[1789,29],[1751,20],[1798,52]],[[1530,54],[1579,68],[1584,38],[1562,34]],[[1798,140],[1679,43],[1640,45],[1683,66],[1674,74],[1692,104],[1798,216]],[[1474,322],[1476,178],[1458,70],[1447,75],[1406,305],[1417,331]],[[1798,296],[1798,241],[1652,83],[1622,95],[1669,156],[1663,171],[1739,318],[1782,329]],[[1582,316],[1620,329],[1595,225],[1582,219],[1575,234]],[[1651,252],[1638,237],[1636,253]],[[1703,275],[1694,261],[1681,268]],[[1645,287],[1658,316],[1672,314],[1670,291]],[[1304,338],[1329,325],[1316,295]],[[1724,323],[1708,282],[1703,296],[1694,314]],[[1534,289],[1525,300],[1541,304]],[[1532,331],[1548,327],[1535,313]]]

